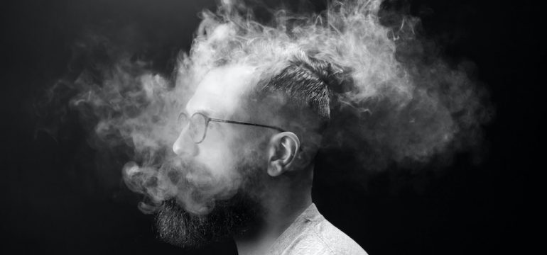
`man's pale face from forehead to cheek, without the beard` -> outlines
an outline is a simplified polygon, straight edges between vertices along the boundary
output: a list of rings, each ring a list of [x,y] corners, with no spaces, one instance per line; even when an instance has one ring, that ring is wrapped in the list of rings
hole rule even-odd
[[[192,116],[202,113],[209,118],[223,120],[237,118],[236,115],[244,112],[241,108],[242,94],[248,89],[250,78],[250,70],[244,67],[213,69],[198,84],[184,109],[185,114]],[[241,156],[238,155],[238,147],[242,146],[241,131],[239,125],[210,122],[202,142],[196,144],[188,130],[183,130],[173,144],[173,151],[183,159],[192,159],[201,164],[216,178],[229,179],[234,174],[231,171],[235,162]]]

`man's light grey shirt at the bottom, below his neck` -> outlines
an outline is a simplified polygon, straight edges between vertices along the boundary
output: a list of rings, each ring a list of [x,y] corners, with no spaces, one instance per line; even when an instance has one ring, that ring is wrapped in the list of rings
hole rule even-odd
[[[328,222],[311,204],[269,249],[275,255],[367,255],[351,237]]]

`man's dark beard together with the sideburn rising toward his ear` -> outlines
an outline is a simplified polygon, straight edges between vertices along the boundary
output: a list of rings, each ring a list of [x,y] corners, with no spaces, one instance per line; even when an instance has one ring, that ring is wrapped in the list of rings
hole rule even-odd
[[[254,166],[259,157],[257,151],[243,157],[236,169],[242,176],[237,192],[228,199],[213,200],[212,210],[206,215],[197,215],[184,210],[176,198],[164,201],[156,217],[156,226],[163,241],[181,247],[200,246],[210,242],[252,234],[259,229],[264,209],[256,194],[264,189],[260,173]],[[197,162],[189,162],[187,169],[197,173],[207,173],[207,169]],[[187,183],[193,186],[193,183]],[[194,187],[195,188],[195,187]],[[189,191],[200,194],[200,189]],[[222,195],[222,194],[220,194]]]

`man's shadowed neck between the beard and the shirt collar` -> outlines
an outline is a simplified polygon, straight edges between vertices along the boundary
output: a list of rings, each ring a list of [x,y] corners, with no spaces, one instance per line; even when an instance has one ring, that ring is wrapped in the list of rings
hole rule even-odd
[[[266,254],[271,244],[312,203],[311,185],[305,181],[276,183],[269,191],[261,198],[267,212],[264,224],[249,236],[234,238],[239,255]]]

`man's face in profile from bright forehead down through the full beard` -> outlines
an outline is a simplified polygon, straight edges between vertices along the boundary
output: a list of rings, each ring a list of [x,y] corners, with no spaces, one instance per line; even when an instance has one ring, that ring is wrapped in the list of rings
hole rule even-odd
[[[197,86],[184,112],[209,118],[245,121],[242,98],[254,82],[247,67],[223,67],[209,72]],[[235,119],[234,119],[235,118]],[[242,125],[210,122],[202,142],[196,143],[188,126],[173,144],[183,162],[185,187],[164,203],[158,230],[167,242],[193,246],[237,234],[256,220],[256,191],[261,152],[256,137]]]

